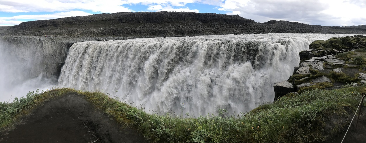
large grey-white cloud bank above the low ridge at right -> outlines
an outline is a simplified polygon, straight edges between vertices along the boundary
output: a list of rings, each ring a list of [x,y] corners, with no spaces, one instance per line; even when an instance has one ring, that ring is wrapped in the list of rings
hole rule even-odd
[[[226,0],[221,11],[253,19],[298,21],[316,25],[352,25],[351,19],[365,17],[366,0]]]

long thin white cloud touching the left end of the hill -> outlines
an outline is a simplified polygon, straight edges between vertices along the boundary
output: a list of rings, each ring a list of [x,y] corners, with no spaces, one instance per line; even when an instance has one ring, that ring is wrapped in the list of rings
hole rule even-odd
[[[69,11],[69,12],[58,12],[47,15],[18,15],[12,17],[0,17],[0,25],[18,25],[25,21],[20,21],[18,19],[31,19],[31,20],[43,20],[43,19],[56,19],[62,17],[71,17],[71,16],[87,16],[91,15],[90,13],[83,11]]]

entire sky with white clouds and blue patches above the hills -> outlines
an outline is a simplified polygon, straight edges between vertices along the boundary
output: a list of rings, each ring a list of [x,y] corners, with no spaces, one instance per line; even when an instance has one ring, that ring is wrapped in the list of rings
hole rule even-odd
[[[0,26],[97,13],[187,11],[327,26],[366,24],[366,0],[0,0]]]

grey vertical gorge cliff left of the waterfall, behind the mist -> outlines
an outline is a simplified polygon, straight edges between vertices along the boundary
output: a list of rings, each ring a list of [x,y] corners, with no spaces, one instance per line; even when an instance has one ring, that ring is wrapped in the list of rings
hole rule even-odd
[[[0,36],[0,43],[8,63],[21,66],[19,70],[26,71],[25,78],[57,78],[71,47],[57,40],[28,36]]]

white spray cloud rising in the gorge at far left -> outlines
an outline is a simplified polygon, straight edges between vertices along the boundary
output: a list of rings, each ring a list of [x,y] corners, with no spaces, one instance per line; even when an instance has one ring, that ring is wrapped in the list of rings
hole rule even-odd
[[[0,102],[12,102],[15,97],[26,96],[30,91],[42,91],[55,85],[42,74],[35,78],[30,76],[33,68],[39,68],[31,66],[35,62],[31,53],[25,48],[6,48],[0,41]]]

